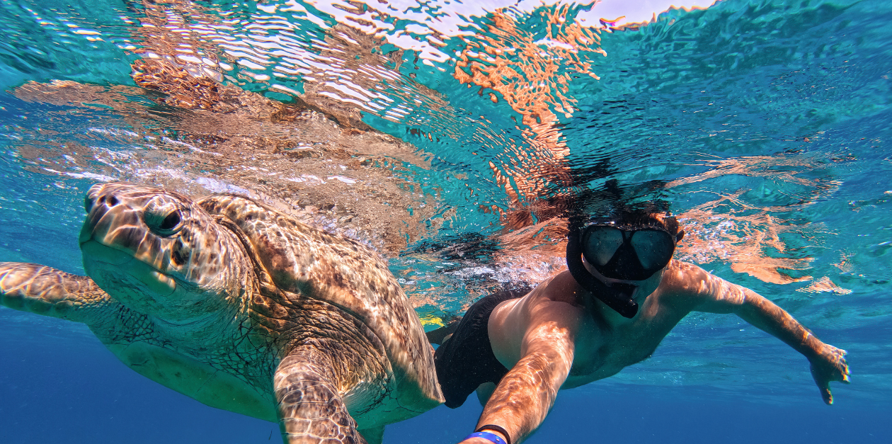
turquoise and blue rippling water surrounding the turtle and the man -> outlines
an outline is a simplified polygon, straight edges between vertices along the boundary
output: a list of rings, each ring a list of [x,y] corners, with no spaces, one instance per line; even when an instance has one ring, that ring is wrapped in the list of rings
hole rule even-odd
[[[557,272],[566,210],[659,200],[680,259],[847,349],[852,384],[823,406],[780,341],[693,314],[528,442],[888,442],[892,6],[727,0],[627,29],[597,8],[4,1],[0,261],[83,274],[97,181],[239,191],[375,247],[433,328]],[[82,325],[0,308],[0,329],[4,442],[277,441]],[[385,442],[454,442],[479,411]]]

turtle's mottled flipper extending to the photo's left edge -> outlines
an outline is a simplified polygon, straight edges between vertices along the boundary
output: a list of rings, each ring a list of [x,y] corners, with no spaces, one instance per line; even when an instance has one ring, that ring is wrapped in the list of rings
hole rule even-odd
[[[87,276],[52,267],[0,262],[0,305],[87,325],[111,303],[108,293]]]

